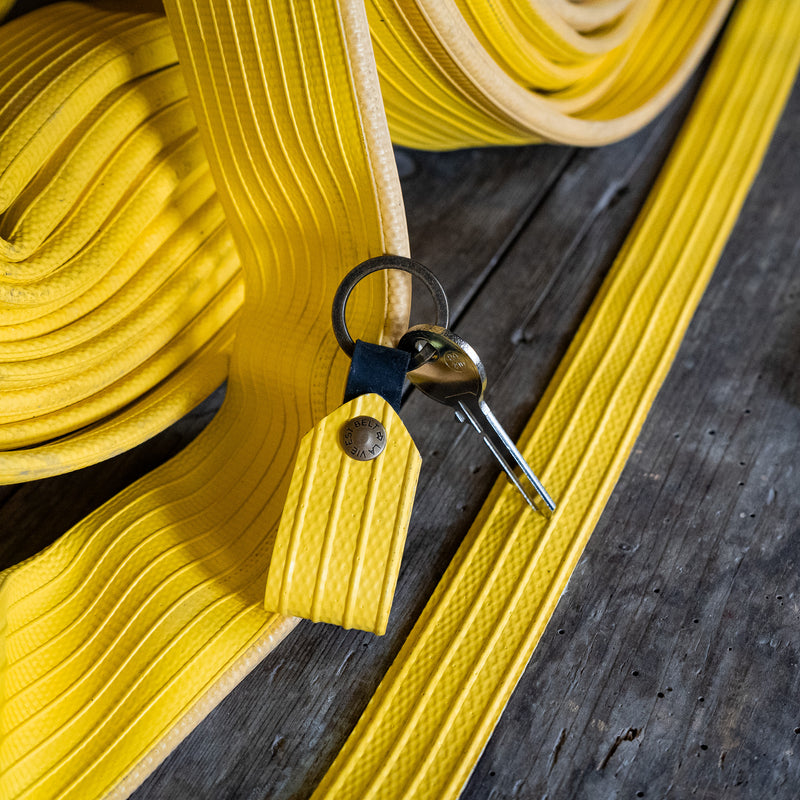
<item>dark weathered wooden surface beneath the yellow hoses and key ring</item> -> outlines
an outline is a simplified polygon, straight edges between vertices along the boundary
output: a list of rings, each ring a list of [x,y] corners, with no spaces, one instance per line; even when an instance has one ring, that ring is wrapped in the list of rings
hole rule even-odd
[[[531,414],[691,100],[597,150],[400,152],[414,256],[445,283],[512,434]],[[800,795],[800,92],[625,471],[464,798]],[[421,321],[421,320],[420,320]],[[2,566],[177,452],[0,489]],[[307,797],[498,474],[412,395],[424,463],[386,636],[300,626],[135,793]]]

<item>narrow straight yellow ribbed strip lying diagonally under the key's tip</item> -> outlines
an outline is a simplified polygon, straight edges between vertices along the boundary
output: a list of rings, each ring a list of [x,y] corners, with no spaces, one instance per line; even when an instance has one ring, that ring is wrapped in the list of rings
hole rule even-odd
[[[647,205],[521,438],[549,523],[500,480],[321,798],[464,786],[666,377],[800,64],[800,4],[746,0]]]

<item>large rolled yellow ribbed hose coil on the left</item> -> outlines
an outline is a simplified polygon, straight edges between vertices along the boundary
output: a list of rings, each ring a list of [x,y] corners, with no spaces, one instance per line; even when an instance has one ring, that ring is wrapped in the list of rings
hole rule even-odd
[[[65,3],[0,38],[0,481],[15,483],[200,402],[243,293],[164,17]]]

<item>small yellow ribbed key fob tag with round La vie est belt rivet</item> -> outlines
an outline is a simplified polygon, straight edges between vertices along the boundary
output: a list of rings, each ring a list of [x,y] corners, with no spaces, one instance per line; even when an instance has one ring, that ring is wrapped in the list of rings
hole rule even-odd
[[[377,394],[345,403],[300,442],[265,607],[383,634],[422,463]]]

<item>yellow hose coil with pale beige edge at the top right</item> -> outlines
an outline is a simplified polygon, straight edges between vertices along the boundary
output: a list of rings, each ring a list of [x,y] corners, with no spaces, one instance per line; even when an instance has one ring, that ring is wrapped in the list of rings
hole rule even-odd
[[[458,5],[466,7],[466,0]],[[500,10],[519,10],[522,4],[476,0],[462,15],[456,0],[369,0],[375,59],[395,141],[447,149],[620,139],[649,122],[675,95],[719,30],[730,2],[631,0],[617,23],[627,33],[620,42],[612,34],[596,38],[571,30],[563,20],[555,25],[549,5],[534,2],[526,9],[529,28],[560,47],[574,48],[564,53],[572,71],[559,80],[556,70],[531,87],[535,76],[520,74],[533,69],[536,59],[522,63],[530,53],[514,45],[520,30],[510,30],[500,19]],[[514,64],[492,57],[501,49]],[[587,57],[590,61],[583,62]],[[641,70],[642,60],[651,67]],[[581,63],[583,71],[576,73]]]

